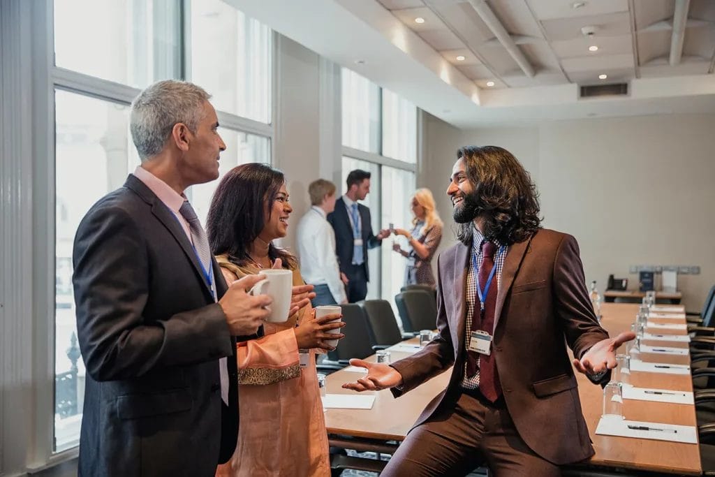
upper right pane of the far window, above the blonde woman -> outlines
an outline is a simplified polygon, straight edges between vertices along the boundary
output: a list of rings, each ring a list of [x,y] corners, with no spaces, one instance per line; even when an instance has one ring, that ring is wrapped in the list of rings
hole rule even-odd
[[[383,156],[417,162],[417,108],[383,89]]]

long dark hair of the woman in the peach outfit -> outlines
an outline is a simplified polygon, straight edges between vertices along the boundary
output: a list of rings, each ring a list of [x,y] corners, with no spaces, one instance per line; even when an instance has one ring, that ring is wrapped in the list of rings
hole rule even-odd
[[[250,245],[265,227],[273,201],[285,182],[283,173],[268,164],[242,164],[231,169],[214,192],[206,219],[206,233],[214,255],[228,255],[239,267],[253,262]],[[284,268],[297,266],[290,253],[268,245],[270,260],[280,258]]]

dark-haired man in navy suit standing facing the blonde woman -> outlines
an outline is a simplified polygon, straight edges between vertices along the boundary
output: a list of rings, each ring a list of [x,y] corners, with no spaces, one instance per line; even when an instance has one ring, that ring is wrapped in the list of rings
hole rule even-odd
[[[382,245],[390,230],[380,230],[378,235],[373,235],[370,209],[358,204],[358,200],[365,200],[370,192],[370,172],[350,171],[346,182],[347,192],[335,202],[335,211],[327,216],[327,221],[335,230],[335,252],[347,301],[355,303],[368,295],[368,249]]]

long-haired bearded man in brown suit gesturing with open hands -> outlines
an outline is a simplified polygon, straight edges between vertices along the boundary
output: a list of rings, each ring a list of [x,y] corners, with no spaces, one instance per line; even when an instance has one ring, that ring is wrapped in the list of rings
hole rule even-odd
[[[608,379],[615,350],[586,292],[578,244],[540,227],[536,187],[501,147],[463,147],[447,194],[460,243],[438,259],[438,336],[344,388],[399,397],[453,366],[383,476],[558,476],[593,456],[573,369]],[[568,358],[566,345],[576,359]]]

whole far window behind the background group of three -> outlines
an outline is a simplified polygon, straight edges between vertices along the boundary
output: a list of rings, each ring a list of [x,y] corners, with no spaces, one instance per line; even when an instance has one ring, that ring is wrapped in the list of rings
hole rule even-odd
[[[410,198],[415,192],[417,108],[397,94],[381,89],[359,74],[342,69],[342,177],[352,169],[372,172],[370,207],[373,231],[395,227],[410,230]],[[395,306],[405,279],[404,257],[393,243],[407,249],[401,237],[383,240],[370,250],[368,298],[382,297]]]

